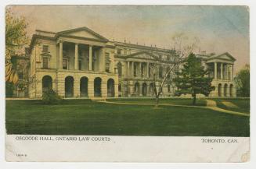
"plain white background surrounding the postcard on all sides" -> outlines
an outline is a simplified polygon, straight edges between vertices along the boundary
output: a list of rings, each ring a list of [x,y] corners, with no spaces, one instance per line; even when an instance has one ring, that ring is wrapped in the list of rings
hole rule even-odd
[[[1,82],[4,82],[5,79],[5,5],[42,5],[42,4],[51,4],[51,5],[58,5],[58,4],[115,4],[115,5],[126,5],[126,4],[135,4],[135,5],[248,5],[250,7],[250,30],[251,30],[251,161],[246,164],[144,164],[144,163],[7,163],[5,162],[5,83],[0,83],[0,107],[1,107],[1,127],[0,127],[0,137],[1,137],[1,147],[0,147],[0,160],[1,160],[1,168],[166,168],[166,167],[179,167],[179,168],[254,168],[256,165],[256,150],[255,150],[255,115],[256,112],[255,106],[253,103],[255,102],[256,90],[253,87],[256,78],[255,78],[255,68],[253,65],[256,64],[255,57],[256,57],[256,43],[255,43],[255,16],[256,16],[256,5],[254,0],[236,0],[236,1],[223,1],[223,0],[215,0],[215,1],[206,1],[206,0],[193,0],[193,1],[142,1],[142,0],[130,0],[130,1],[59,1],[59,0],[27,0],[27,1],[1,1],[0,4],[0,68],[2,71],[0,72]]]

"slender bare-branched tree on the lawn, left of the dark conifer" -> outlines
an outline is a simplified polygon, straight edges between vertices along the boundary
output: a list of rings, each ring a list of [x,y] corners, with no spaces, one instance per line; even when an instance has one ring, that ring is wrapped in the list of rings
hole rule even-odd
[[[175,77],[175,72],[182,66],[184,58],[197,47],[199,42],[196,37],[191,39],[186,37],[184,33],[175,33],[172,40],[174,48],[168,50],[168,58],[162,56],[163,52],[151,51],[155,58],[154,62],[150,64],[150,76],[153,77],[153,95],[156,107],[158,107],[164,84],[171,83],[171,79]]]

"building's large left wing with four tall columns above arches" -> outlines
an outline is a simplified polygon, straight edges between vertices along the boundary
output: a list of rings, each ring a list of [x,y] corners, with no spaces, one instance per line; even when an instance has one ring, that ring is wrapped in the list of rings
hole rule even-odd
[[[52,34],[38,32],[38,37]],[[52,37],[52,40],[56,40],[55,57],[53,45],[45,43],[45,39],[41,40],[41,62],[38,62],[41,66],[38,66],[36,73],[42,84],[42,87],[36,86],[38,97],[49,88],[63,97],[118,95],[113,43],[86,27],[67,30]]]

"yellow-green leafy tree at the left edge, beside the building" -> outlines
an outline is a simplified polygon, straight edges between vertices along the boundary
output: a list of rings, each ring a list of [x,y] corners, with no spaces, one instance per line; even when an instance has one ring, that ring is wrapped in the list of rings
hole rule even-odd
[[[13,69],[11,58],[28,42],[27,23],[22,17],[15,17],[10,9],[5,12],[5,82],[16,84],[19,76]]]

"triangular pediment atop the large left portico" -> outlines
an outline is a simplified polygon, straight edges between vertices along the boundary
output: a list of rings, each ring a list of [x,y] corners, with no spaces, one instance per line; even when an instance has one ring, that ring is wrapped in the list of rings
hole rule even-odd
[[[88,40],[98,40],[98,41],[108,41],[105,37],[99,35],[99,33],[94,32],[93,30],[88,29],[88,27],[80,27],[73,30],[64,30],[57,33],[57,36],[65,37],[78,37],[85,38]]]

